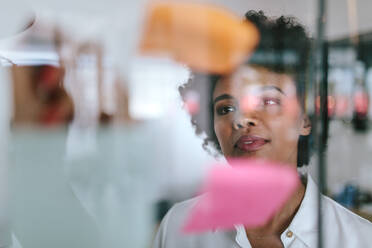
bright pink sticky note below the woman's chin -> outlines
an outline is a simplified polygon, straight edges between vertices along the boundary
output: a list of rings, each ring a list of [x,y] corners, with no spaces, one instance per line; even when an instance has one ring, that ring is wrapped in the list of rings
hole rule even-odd
[[[202,197],[186,220],[183,231],[230,229],[236,224],[265,224],[299,184],[296,170],[262,160],[229,161],[209,172]]]

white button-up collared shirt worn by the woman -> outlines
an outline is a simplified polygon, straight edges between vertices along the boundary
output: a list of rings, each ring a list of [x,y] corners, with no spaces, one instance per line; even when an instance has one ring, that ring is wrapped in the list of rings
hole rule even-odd
[[[164,217],[156,235],[154,248],[251,248],[244,227],[236,230],[210,231],[198,235],[181,232],[185,218],[197,199],[176,204]],[[305,196],[291,224],[281,234],[286,248],[316,248],[318,246],[318,189],[308,176]],[[323,245],[326,248],[372,247],[372,223],[322,196]]]

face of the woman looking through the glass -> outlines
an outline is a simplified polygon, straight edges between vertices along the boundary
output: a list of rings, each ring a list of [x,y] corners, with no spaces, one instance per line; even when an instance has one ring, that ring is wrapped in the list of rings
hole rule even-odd
[[[311,126],[291,76],[242,66],[213,94],[214,129],[224,156],[297,166],[297,142]]]

